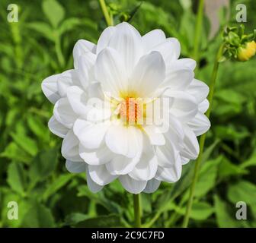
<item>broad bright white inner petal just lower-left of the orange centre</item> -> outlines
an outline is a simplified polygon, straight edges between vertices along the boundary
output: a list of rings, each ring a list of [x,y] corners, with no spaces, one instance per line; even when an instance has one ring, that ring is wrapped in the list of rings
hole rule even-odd
[[[78,118],[73,131],[85,148],[96,149],[100,147],[108,126],[107,122],[93,123]]]

